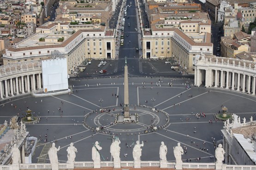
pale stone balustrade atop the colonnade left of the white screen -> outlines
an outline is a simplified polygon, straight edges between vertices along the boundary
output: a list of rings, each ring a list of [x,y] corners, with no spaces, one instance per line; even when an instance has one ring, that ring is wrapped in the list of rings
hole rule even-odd
[[[0,79],[6,76],[16,77],[15,74],[40,71],[40,70],[42,71],[41,61],[21,62],[21,63],[4,65],[4,66],[0,66]]]

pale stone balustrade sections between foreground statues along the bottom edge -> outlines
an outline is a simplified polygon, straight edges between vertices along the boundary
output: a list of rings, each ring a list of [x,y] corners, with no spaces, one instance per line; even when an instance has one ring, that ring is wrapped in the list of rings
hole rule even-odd
[[[102,161],[101,167],[113,167],[113,161]],[[121,167],[133,167],[133,161],[121,161]],[[69,164],[59,164],[59,169],[67,169]],[[75,162],[74,168],[93,168],[94,162]],[[141,167],[160,167],[160,161],[141,161]],[[167,168],[175,168],[174,162],[168,162]],[[215,169],[215,163],[183,163],[183,169]],[[14,168],[15,169],[15,168]],[[51,164],[19,164],[19,170],[23,169],[52,169]],[[13,170],[12,164],[0,165],[0,170]],[[256,170],[255,165],[222,165],[222,170]]]

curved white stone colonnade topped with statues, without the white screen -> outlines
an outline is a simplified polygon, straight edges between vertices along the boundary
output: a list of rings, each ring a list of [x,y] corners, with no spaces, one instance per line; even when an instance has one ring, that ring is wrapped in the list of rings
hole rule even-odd
[[[195,68],[195,85],[202,84],[255,95],[256,63],[224,57],[200,57]]]

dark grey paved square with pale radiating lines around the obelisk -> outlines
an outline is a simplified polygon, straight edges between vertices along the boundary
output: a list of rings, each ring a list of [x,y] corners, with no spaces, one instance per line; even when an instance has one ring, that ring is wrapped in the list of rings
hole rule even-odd
[[[112,160],[110,134],[118,136],[121,141],[121,160],[133,160],[133,144],[140,140],[144,141],[142,160],[159,160],[159,147],[161,141],[164,141],[168,148],[168,161],[175,160],[173,147],[180,142],[182,147],[187,147],[187,153],[182,156],[184,162],[186,159],[196,162],[195,159],[199,157],[200,162],[214,162],[210,159],[214,155],[212,138],[215,138],[215,142],[222,139],[220,130],[223,122],[215,122],[213,114],[221,106],[226,106],[230,113],[236,113],[241,118],[249,120],[253,116],[256,119],[256,98],[241,92],[201,87],[186,90],[185,84],[190,81],[188,79],[130,78],[130,109],[131,113],[138,113],[139,122],[115,125],[115,116],[117,113],[121,114],[120,110],[123,108],[120,106],[124,102],[123,81],[123,78],[113,77],[70,81],[69,84],[73,86],[71,95],[38,98],[20,96],[4,101],[0,103],[0,122],[4,123],[5,119],[9,120],[14,115],[22,116],[28,108],[34,112],[34,116],[42,118],[39,123],[26,126],[30,136],[36,136],[40,140],[33,163],[37,163],[38,158],[45,154],[42,149],[47,149],[47,144],[55,140],[56,146],[60,145],[61,148],[58,152],[60,162],[67,161],[66,149],[71,142],[74,142],[78,150],[76,161],[92,161],[91,148],[95,141],[101,142],[103,157]],[[162,81],[161,86],[156,85],[159,81]],[[168,83],[172,83],[172,87]],[[152,98],[155,99],[154,102],[151,101]],[[99,102],[100,99],[103,101]],[[142,106],[139,107],[138,104]],[[111,112],[100,113],[101,105],[102,108],[111,109]],[[160,111],[154,112],[148,108],[153,105]],[[202,112],[206,117],[198,119],[195,114]],[[213,120],[213,123],[209,123],[209,120]],[[106,128],[96,132],[95,128],[99,125]],[[162,128],[153,131],[150,129],[151,125]],[[91,127],[94,130],[89,129]],[[46,134],[47,142],[44,142]],[[125,153],[127,157],[124,157]],[[49,163],[48,156],[45,162]]]

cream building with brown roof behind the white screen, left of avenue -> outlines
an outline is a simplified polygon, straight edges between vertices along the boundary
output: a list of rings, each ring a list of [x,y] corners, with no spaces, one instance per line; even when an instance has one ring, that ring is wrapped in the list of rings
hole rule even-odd
[[[6,49],[4,65],[48,59],[51,51],[58,50],[67,58],[71,74],[86,58],[114,58],[115,31],[104,26],[87,28],[68,22],[48,22],[36,28],[36,34]]]

